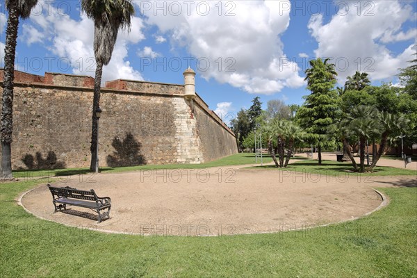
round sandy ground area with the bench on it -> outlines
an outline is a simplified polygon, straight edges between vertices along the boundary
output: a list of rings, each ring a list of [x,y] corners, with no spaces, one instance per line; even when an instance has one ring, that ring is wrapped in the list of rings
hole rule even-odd
[[[247,165],[90,174],[54,181],[54,186],[94,188],[100,197],[110,196],[111,219],[100,224],[96,213],[88,209],[73,207],[67,213],[53,213],[46,185],[26,194],[22,204],[48,220],[106,231],[172,236],[253,234],[357,218],[381,204],[373,188],[413,186],[416,181],[416,177],[328,177],[243,167]]]

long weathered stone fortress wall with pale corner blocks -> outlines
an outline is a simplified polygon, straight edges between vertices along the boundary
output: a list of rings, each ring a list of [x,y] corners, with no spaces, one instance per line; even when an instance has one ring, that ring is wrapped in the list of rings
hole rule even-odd
[[[0,69],[1,93],[2,81]],[[90,76],[15,72],[13,169],[90,166],[93,88]],[[184,85],[108,81],[100,107],[101,167],[204,163],[238,152],[234,133]]]

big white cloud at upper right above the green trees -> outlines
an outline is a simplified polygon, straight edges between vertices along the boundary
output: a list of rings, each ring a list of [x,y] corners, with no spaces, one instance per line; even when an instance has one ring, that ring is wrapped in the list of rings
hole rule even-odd
[[[380,80],[394,76],[399,67],[407,66],[407,60],[415,53],[412,47],[417,33],[416,29],[403,33],[402,26],[414,20],[412,7],[400,1],[368,1],[370,16],[365,16],[357,12],[358,5],[366,5],[364,1],[344,3],[349,5],[345,15],[336,14],[328,23],[323,22],[322,15],[313,15],[308,24],[318,42],[316,56],[331,58],[336,64],[339,83],[344,83],[346,76],[355,71],[368,72],[370,79]],[[399,40],[409,41],[409,46],[399,54],[392,53],[384,44]]]

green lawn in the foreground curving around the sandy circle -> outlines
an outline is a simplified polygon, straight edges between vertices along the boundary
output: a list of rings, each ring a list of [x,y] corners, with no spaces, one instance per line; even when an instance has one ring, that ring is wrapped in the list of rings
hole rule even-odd
[[[415,187],[380,189],[391,204],[352,222],[199,238],[101,234],[39,220],[15,198],[40,182],[0,184],[1,277],[417,277]]]

